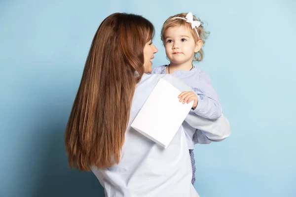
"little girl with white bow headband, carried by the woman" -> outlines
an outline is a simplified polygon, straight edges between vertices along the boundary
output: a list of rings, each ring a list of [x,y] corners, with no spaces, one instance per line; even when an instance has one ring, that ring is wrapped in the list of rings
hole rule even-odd
[[[208,32],[205,32],[202,24],[191,12],[169,17],[162,26],[160,36],[170,64],[155,67],[152,73],[173,74],[184,80],[194,92],[181,93],[180,102],[188,103],[194,100],[192,108],[197,115],[207,119],[217,119],[222,115],[222,107],[211,79],[206,73],[192,65],[193,61],[202,61],[204,56],[201,47],[205,43]],[[187,134],[192,165],[191,183],[194,184],[195,161],[192,139],[194,139],[195,131],[186,123],[183,126]]]

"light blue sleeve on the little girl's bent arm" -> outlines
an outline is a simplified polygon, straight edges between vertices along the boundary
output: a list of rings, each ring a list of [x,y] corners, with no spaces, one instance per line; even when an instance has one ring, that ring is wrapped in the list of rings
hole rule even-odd
[[[212,86],[210,77],[206,73],[200,74],[199,80],[196,80],[192,89],[198,98],[197,106],[193,110],[194,113],[208,119],[217,119],[222,115],[219,98]]]

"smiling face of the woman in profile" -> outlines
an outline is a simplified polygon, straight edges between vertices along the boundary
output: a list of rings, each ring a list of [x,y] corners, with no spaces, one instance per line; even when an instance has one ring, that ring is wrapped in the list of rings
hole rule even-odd
[[[154,53],[157,53],[157,51],[152,40],[149,40],[144,47],[144,73],[152,72],[152,60],[154,58]]]

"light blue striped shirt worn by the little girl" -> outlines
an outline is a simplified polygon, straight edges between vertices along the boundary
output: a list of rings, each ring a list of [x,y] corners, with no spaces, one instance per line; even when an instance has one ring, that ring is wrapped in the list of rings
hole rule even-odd
[[[165,74],[166,65],[154,67],[151,74]],[[190,86],[198,98],[197,107],[193,112],[203,118],[217,119],[222,115],[222,107],[219,98],[212,86],[210,77],[197,67],[192,70],[176,70],[172,75],[182,79],[186,85]],[[193,130],[186,122],[183,127],[185,131]],[[191,132],[192,133],[192,132]],[[194,136],[186,136],[188,148],[194,149],[192,138]]]

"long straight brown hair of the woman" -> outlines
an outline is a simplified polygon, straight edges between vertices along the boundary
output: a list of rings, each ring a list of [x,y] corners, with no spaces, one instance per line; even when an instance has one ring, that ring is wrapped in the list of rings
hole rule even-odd
[[[114,13],[98,28],[66,128],[70,167],[89,171],[118,164],[144,47],[153,25],[135,14]]]

